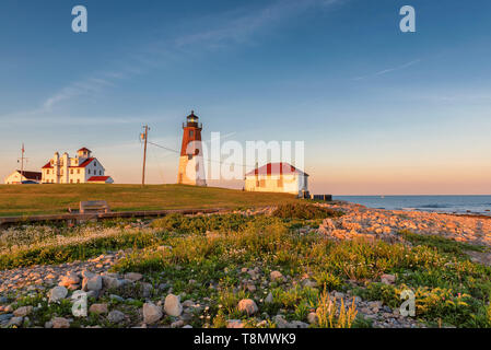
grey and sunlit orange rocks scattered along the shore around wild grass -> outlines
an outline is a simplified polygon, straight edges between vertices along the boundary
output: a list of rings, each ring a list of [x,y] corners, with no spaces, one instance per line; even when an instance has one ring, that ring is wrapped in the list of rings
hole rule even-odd
[[[340,218],[325,219],[318,229],[300,230],[329,236],[335,241],[363,238],[390,243],[401,241],[398,232],[410,230],[418,234],[440,235],[457,242],[491,246],[491,221],[483,218],[369,209],[346,202],[318,206],[341,210],[344,214]],[[247,215],[270,214],[273,209],[271,207],[262,208],[244,213]],[[148,222],[142,222],[141,226],[148,226]],[[2,327],[33,327],[35,325],[33,317],[36,311],[42,308],[40,303],[25,305],[25,299],[40,298],[43,303],[47,303],[46,307],[60,303],[71,305],[82,292],[89,298],[87,313],[96,315],[100,324],[82,325],[81,327],[184,328],[191,327],[190,323],[196,317],[204,320],[210,317],[208,310],[214,302],[209,298],[191,300],[186,293],[175,295],[171,282],[155,282],[142,273],[110,272],[109,269],[118,260],[131,254],[131,250],[107,252],[85,261],[56,266],[38,265],[0,271],[0,325]],[[488,254],[484,256],[489,258]],[[479,262],[487,261],[479,255],[475,259]],[[280,271],[268,273],[260,267],[254,269],[237,267],[234,272],[241,276],[241,284],[250,292],[266,291],[272,283],[284,289],[295,285],[318,287],[308,275],[293,277],[283,276]],[[394,284],[394,281],[395,276],[391,275],[384,275],[379,280],[385,284]],[[196,281],[189,280],[185,283],[192,284]],[[356,281],[350,281],[350,283],[353,287],[358,285]],[[210,288],[217,287],[210,284]],[[353,295],[351,291],[331,291],[330,296],[337,305],[336,307],[347,307],[354,303],[358,313],[365,319],[372,320],[373,327],[425,327],[417,319],[401,316],[399,310],[390,308],[382,301],[363,301],[360,296]],[[226,319],[226,327],[265,327],[272,320],[279,328],[306,328],[309,324],[316,323],[315,310],[311,310],[308,323],[300,319],[287,320],[281,310],[277,315],[261,313],[262,305],[266,305],[271,299],[272,295],[267,294],[260,300],[241,300],[237,308],[247,315],[255,315],[254,324],[247,324],[241,319]],[[20,300],[23,302],[19,303]],[[77,322],[75,317],[56,315],[40,327],[68,328],[74,322]]]

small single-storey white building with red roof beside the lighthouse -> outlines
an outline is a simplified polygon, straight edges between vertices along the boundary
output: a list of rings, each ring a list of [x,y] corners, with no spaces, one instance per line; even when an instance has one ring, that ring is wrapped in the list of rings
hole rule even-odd
[[[245,175],[245,190],[301,195],[308,191],[307,178],[289,163],[268,163]]]

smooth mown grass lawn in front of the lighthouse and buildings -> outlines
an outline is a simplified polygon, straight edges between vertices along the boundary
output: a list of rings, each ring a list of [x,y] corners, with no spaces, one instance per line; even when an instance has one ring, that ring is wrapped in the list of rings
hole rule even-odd
[[[185,185],[0,185],[0,217],[63,213],[82,200],[106,200],[113,211],[130,211],[260,207],[295,198]]]

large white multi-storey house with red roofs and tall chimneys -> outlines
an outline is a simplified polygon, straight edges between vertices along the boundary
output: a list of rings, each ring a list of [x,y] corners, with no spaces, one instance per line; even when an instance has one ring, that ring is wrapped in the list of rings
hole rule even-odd
[[[84,184],[102,183],[92,180],[92,177],[105,177],[105,184],[113,184],[110,176],[105,176],[105,168],[101,162],[93,158],[92,152],[82,148],[77,151],[75,158],[70,158],[67,152],[62,156],[58,152],[42,168],[44,184]]]

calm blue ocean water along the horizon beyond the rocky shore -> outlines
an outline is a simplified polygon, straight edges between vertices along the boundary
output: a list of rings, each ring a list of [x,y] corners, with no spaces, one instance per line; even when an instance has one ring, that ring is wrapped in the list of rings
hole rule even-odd
[[[334,196],[370,208],[491,215],[491,196]]]

